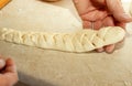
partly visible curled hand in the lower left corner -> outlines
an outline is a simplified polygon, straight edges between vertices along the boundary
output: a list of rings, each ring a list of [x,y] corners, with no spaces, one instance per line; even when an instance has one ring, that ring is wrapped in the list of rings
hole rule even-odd
[[[11,58],[0,56],[0,86],[13,86],[18,82],[16,66]]]

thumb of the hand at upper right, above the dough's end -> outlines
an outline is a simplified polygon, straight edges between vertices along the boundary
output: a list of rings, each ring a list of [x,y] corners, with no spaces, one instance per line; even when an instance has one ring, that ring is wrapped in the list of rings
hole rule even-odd
[[[132,22],[132,18],[128,15],[120,0],[106,0],[108,10],[119,22]]]

